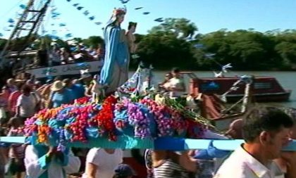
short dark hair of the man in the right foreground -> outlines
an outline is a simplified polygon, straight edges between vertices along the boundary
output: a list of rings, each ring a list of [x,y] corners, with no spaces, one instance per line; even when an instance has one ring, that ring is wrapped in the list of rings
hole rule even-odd
[[[272,106],[256,106],[242,120],[242,136],[245,141],[254,141],[263,131],[279,132],[282,127],[293,126],[292,118]]]

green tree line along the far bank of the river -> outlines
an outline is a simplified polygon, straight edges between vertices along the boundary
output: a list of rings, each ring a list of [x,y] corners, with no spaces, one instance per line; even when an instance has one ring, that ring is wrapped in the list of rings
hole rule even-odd
[[[176,66],[186,70],[220,70],[220,65],[227,63],[232,63],[233,70],[296,70],[296,30],[221,29],[200,34],[190,20],[167,18],[148,34],[135,36],[140,58],[131,61],[132,67],[143,61],[158,70]],[[75,40],[87,46],[104,46],[103,39],[97,36]],[[4,42],[0,39],[0,50]],[[67,45],[61,39],[57,42]]]

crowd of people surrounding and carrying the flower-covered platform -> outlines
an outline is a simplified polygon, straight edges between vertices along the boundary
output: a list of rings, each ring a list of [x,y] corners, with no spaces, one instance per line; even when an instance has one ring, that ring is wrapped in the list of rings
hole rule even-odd
[[[99,76],[83,72],[78,79],[56,77],[42,84],[34,79],[9,79],[0,94],[1,136],[23,136],[21,127],[27,117],[42,108],[70,104],[77,98],[93,97]],[[171,96],[180,96],[183,79],[174,68],[160,84]],[[177,94],[176,94],[177,92]],[[282,152],[290,139],[296,139],[296,110],[261,106],[242,119],[235,120],[219,139],[245,139],[245,144],[223,157],[204,156],[204,150],[147,150],[147,177],[296,177],[296,153]],[[218,151],[218,149],[216,149]],[[1,144],[0,177],[137,177],[134,165],[123,164],[122,149],[68,148],[58,151],[51,146]]]

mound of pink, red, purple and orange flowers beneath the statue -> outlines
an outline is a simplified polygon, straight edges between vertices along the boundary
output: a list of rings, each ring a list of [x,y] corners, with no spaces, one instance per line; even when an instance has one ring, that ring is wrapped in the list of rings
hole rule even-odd
[[[44,109],[25,121],[26,136],[37,144],[57,143],[65,150],[70,143],[88,143],[98,137],[116,141],[117,136],[140,139],[155,136],[202,138],[205,125],[195,115],[175,108],[175,101],[157,103],[151,98],[134,100],[109,96],[99,103],[79,98],[73,105]]]

